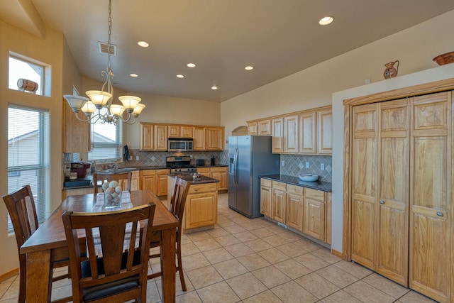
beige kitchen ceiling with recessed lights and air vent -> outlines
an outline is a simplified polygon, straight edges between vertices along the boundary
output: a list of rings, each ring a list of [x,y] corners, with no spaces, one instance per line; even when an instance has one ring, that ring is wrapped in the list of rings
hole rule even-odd
[[[9,0],[0,1],[0,18],[41,37],[45,26],[61,31],[81,74],[103,82],[98,42],[108,39],[108,7]],[[452,0],[112,0],[113,82],[128,92],[225,101],[453,9]],[[323,16],[333,23],[320,26]]]

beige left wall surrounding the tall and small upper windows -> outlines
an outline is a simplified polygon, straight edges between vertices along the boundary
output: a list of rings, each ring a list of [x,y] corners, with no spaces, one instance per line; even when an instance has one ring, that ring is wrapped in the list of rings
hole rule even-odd
[[[50,209],[53,211],[62,202],[62,62],[63,35],[51,28],[45,28],[45,38],[18,30],[0,21],[0,154],[7,155],[8,140],[8,105],[48,109],[50,113]],[[27,92],[18,92],[8,88],[9,52],[31,57],[51,65],[51,97],[44,97]],[[8,192],[8,159],[0,158],[0,193]],[[52,186],[57,184],[57,186]],[[0,203],[0,275],[18,268],[16,238],[8,234],[6,206]]]

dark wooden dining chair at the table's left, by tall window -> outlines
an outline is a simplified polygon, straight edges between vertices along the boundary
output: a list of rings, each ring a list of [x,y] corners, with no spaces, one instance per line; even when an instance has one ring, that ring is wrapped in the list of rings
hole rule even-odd
[[[30,185],[25,185],[11,194],[5,194],[2,198],[6,204],[6,209],[8,209],[14,234],[16,235],[20,279],[18,302],[22,303],[26,301],[27,259],[25,254],[20,253],[20,249],[22,244],[38,229],[35,199],[33,199]],[[65,259],[52,263],[52,268],[62,268],[69,265],[70,261]],[[68,272],[70,272],[70,268],[68,268]],[[69,273],[52,277],[52,282],[67,277],[70,277]],[[58,302],[69,302],[71,299],[71,297],[66,297],[58,300]]]

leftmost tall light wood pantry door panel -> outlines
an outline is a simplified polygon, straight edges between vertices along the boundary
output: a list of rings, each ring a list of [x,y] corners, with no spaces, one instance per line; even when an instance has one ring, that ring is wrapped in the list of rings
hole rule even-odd
[[[353,107],[351,258],[375,270],[378,104]]]

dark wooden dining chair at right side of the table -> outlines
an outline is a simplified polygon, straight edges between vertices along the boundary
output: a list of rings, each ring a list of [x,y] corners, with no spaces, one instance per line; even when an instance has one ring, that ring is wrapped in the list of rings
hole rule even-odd
[[[175,178],[175,184],[172,189],[172,196],[170,198],[170,211],[172,214],[178,219],[178,227],[177,227],[177,271],[179,272],[179,280],[182,283],[182,289],[186,292],[186,283],[184,282],[184,272],[183,272],[183,265],[182,265],[182,224],[183,224],[183,214],[184,214],[184,206],[186,206],[186,198],[189,192],[189,187],[191,187],[191,182],[183,180],[179,177]],[[161,258],[162,254],[162,238],[152,238],[152,242],[150,243],[151,248],[160,247],[160,253],[155,253],[150,255],[151,258]],[[162,258],[161,258],[161,270],[162,270]],[[160,277],[162,275],[161,272],[155,272],[153,274],[148,275],[148,279],[153,279],[154,277]]]

